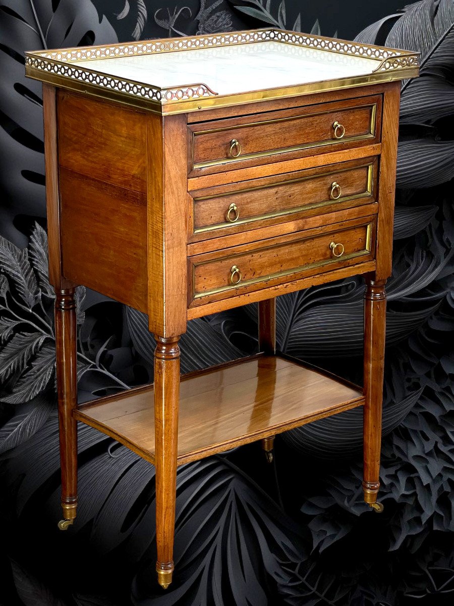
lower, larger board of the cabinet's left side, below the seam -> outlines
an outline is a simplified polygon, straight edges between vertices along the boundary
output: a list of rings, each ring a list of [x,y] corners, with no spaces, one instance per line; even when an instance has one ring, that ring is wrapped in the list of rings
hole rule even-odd
[[[147,310],[146,195],[60,169],[64,274]]]

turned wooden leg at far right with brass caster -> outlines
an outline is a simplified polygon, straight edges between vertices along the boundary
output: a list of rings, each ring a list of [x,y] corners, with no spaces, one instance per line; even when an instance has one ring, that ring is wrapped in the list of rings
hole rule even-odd
[[[381,407],[386,326],[386,282],[366,279],[364,294],[364,501],[375,511],[380,486]]]

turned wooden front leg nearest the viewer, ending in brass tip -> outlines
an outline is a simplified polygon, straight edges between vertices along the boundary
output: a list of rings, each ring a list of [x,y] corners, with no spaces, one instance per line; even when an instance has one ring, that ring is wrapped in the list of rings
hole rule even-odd
[[[166,589],[172,582],[177,439],[180,397],[179,337],[156,336],[154,351],[154,433],[156,442],[157,580]]]

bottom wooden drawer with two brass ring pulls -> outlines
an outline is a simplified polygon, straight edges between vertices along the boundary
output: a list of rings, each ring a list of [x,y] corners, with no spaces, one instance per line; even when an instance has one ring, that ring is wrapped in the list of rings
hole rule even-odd
[[[375,225],[369,216],[189,257],[189,305],[370,261]]]

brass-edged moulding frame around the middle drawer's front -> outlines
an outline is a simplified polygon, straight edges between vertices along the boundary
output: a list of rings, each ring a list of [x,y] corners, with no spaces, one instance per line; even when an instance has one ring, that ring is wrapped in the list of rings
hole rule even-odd
[[[276,183],[266,185],[265,187],[263,187],[263,185],[260,187],[248,187],[246,189],[241,189],[241,190],[227,191],[226,193],[220,193],[215,196],[200,196],[200,198],[192,198],[192,216],[194,217],[196,215],[196,202],[199,202],[202,200],[210,200],[212,198],[224,198],[226,196],[231,196],[232,194],[235,194],[235,193],[248,193],[248,191],[265,190],[269,187],[278,187],[280,185],[300,183],[303,181],[309,181],[310,179],[317,179],[317,178],[323,177],[323,176],[337,175],[338,173],[346,173],[351,170],[358,170],[359,168],[367,168],[366,190],[361,191],[361,193],[352,194],[351,196],[340,196],[339,198],[335,198],[335,199],[329,198],[323,202],[314,202],[314,204],[303,204],[303,205],[295,207],[295,208],[287,208],[287,209],[284,208],[283,210],[276,210],[272,213],[263,213],[263,215],[257,215],[255,217],[237,219],[234,222],[225,221],[223,223],[217,223],[215,225],[207,225],[206,227],[197,227],[197,228],[193,229],[192,233],[194,233],[194,235],[196,235],[198,233],[205,233],[206,231],[215,231],[215,230],[219,230],[219,229],[224,229],[226,227],[231,227],[232,225],[246,225],[248,223],[254,223],[255,221],[263,221],[265,219],[274,219],[276,217],[281,217],[281,216],[285,216],[285,215],[295,215],[296,213],[300,213],[304,210],[309,210],[310,208],[321,208],[323,206],[329,206],[330,204],[336,204],[337,202],[348,202],[350,200],[357,200],[358,198],[371,197],[373,194],[373,162],[370,162],[368,164],[363,164],[360,166],[355,166],[353,168],[352,167],[341,168],[340,170],[333,170],[329,173],[317,173],[316,175],[301,177],[300,179],[288,179],[287,181],[278,181]]]

